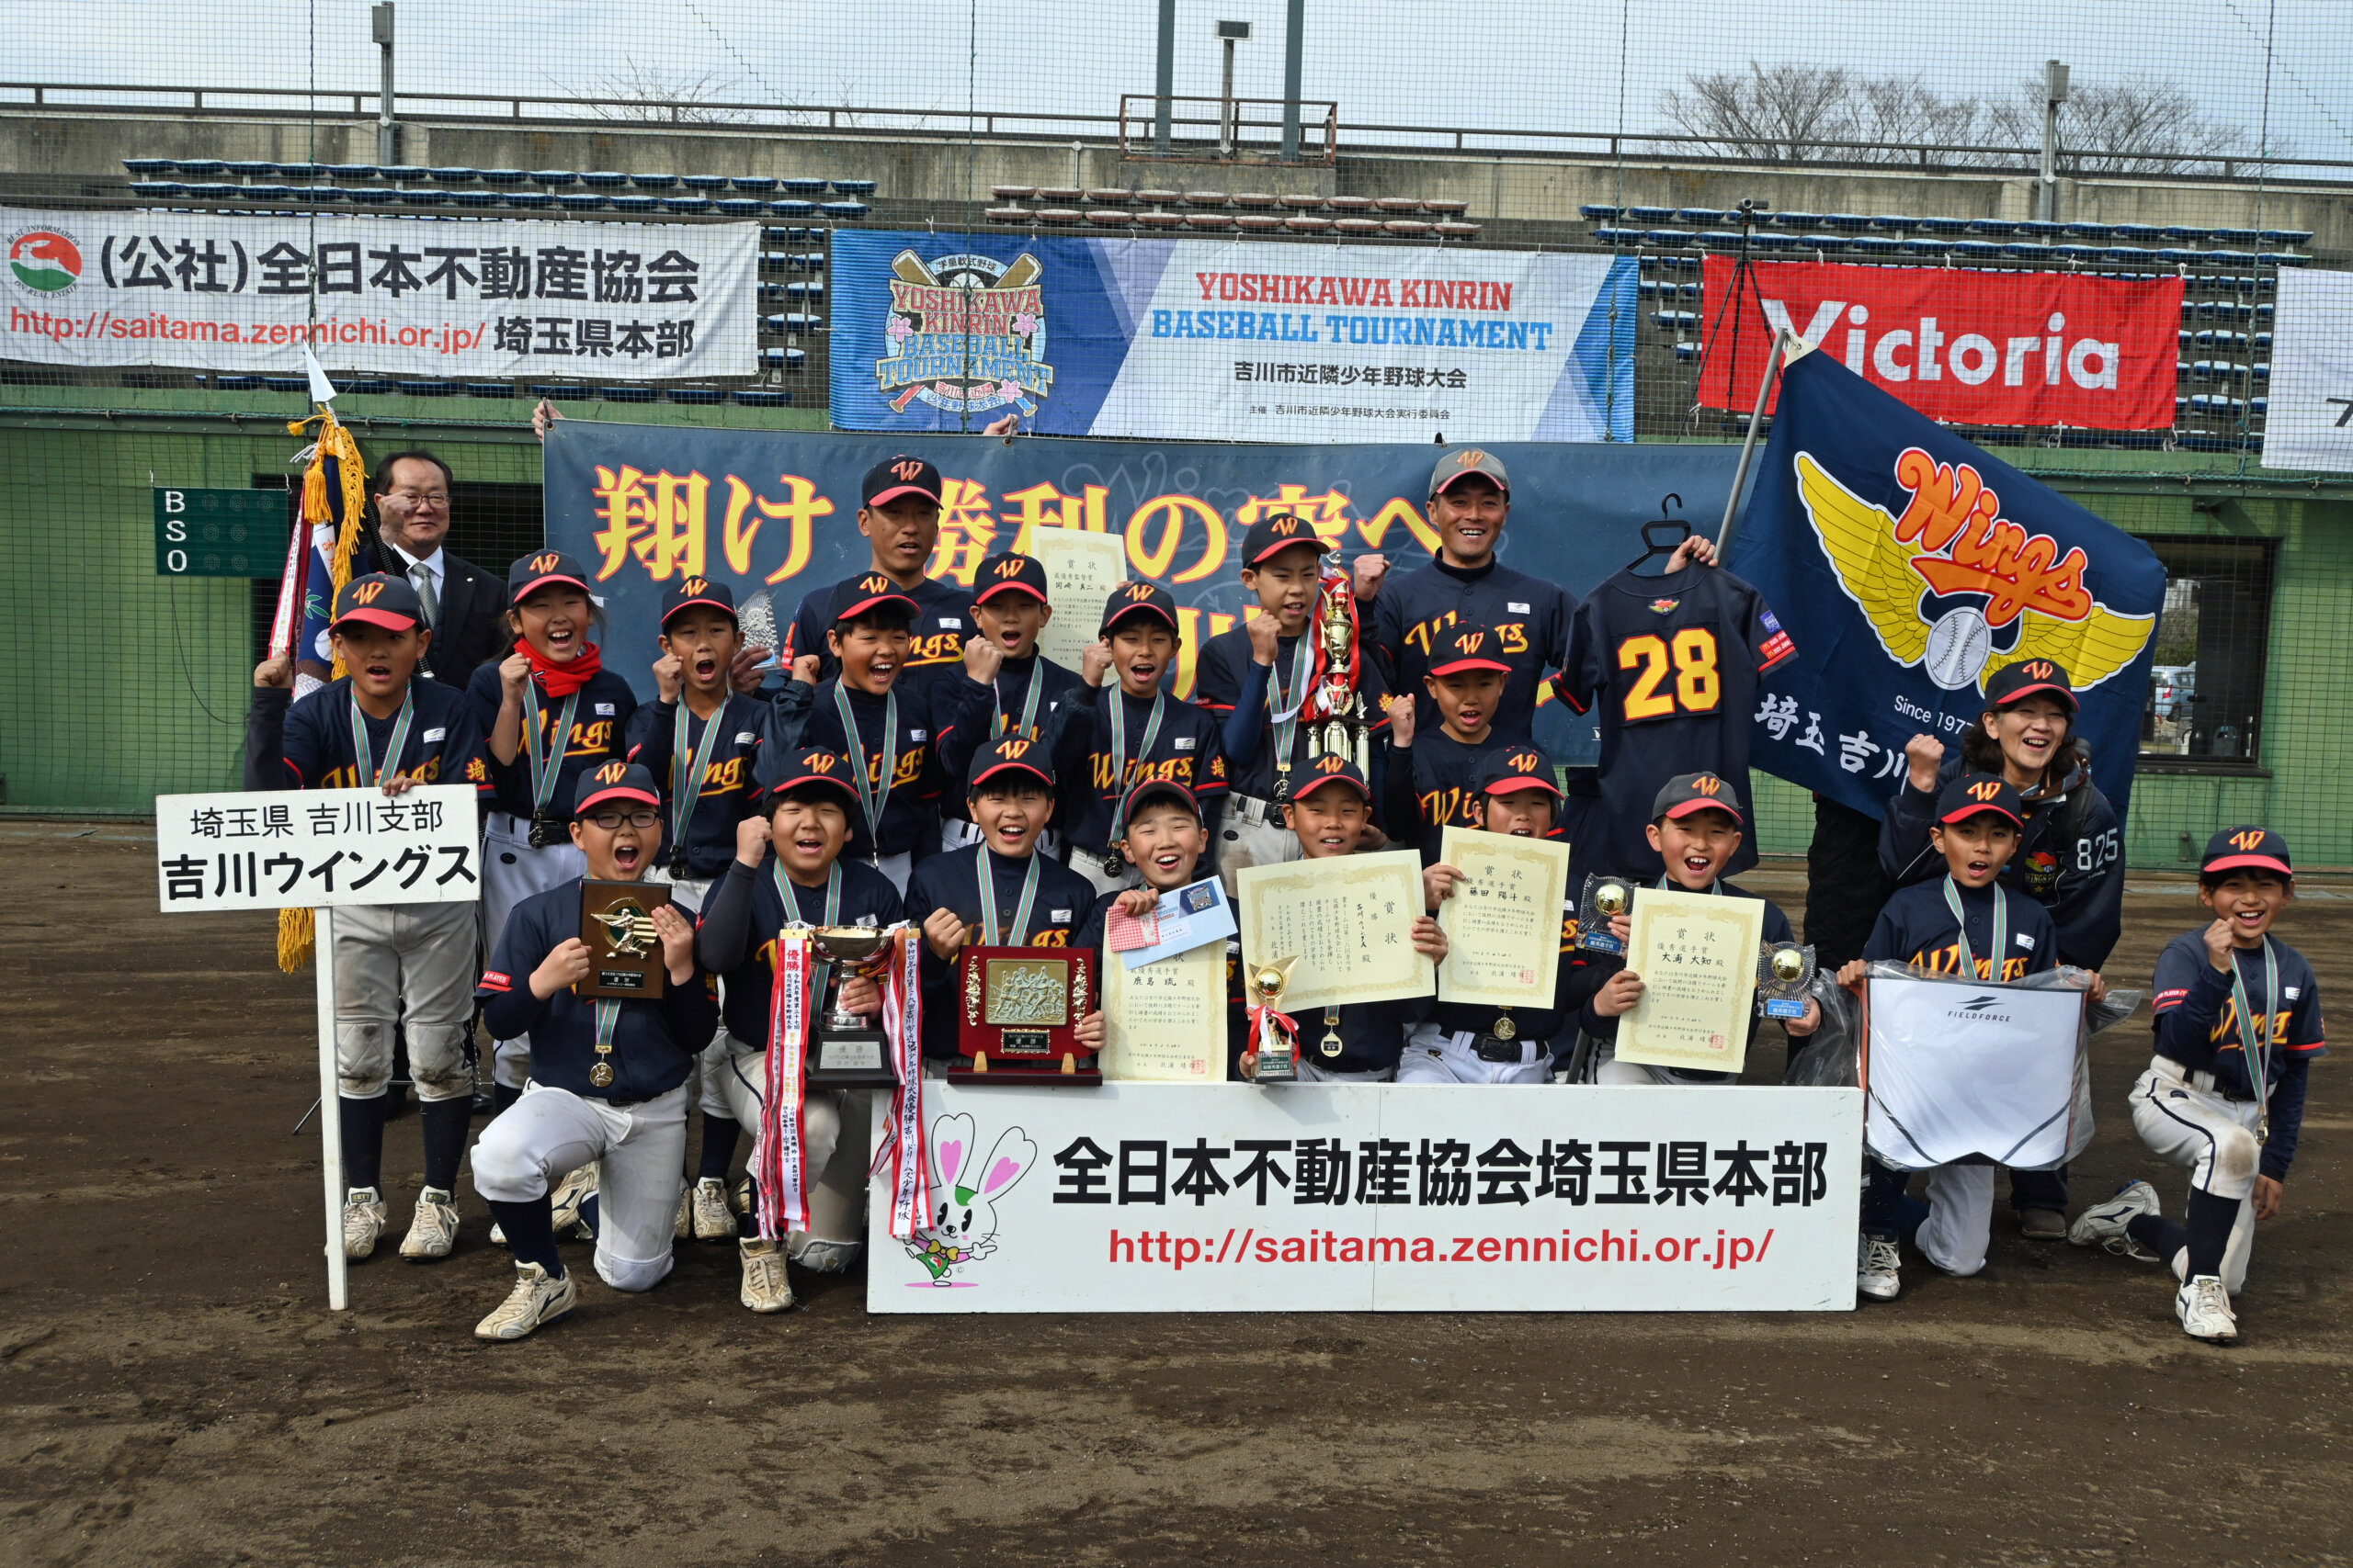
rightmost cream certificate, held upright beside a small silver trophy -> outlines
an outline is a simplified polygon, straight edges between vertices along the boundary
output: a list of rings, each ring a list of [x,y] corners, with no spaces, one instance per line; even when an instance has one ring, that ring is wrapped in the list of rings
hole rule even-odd
[[[1762,898],[1635,889],[1626,969],[1642,976],[1642,999],[1619,1018],[1617,1058],[1739,1072],[1762,940]]]

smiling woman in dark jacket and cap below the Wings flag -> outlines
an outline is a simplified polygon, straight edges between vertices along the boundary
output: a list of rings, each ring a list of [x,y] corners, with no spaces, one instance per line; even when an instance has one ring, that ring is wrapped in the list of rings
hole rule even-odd
[[[2002,665],[1986,682],[1986,712],[1958,755],[1934,736],[1913,736],[1911,778],[1880,820],[1880,870],[1897,884],[1941,875],[1929,846],[1937,790],[1962,771],[2000,773],[2019,792],[2026,832],[2002,870],[2002,886],[2040,903],[2059,929],[2059,961],[2101,969],[2125,919],[2125,835],[2115,806],[2092,783],[2092,759],[2075,736],[2075,691],[2047,658]],[[2009,1206],[2031,1241],[2066,1237],[2066,1166],[2012,1171]]]

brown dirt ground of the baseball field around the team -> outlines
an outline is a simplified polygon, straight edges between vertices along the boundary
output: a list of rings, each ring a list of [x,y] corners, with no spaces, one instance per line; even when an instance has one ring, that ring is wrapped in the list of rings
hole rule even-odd
[[[80,837],[68,837],[80,835]],[[485,1347],[513,1269],[325,1309],[313,983],[266,917],[167,922],[134,825],[0,823],[5,1563],[2344,1563],[2353,1105],[2313,1072],[2235,1349],[2151,1267],[1995,1220],[1979,1279],[1831,1316],[755,1319],[727,1246]],[[1800,877],[1751,879],[1795,917]],[[2195,919],[2137,875],[2118,983]],[[2282,933],[2353,980],[2353,889]],[[2094,1046],[2078,1206],[2181,1178]],[[1777,1065],[1779,1051],[1767,1051]],[[386,1175],[407,1222],[416,1119]]]

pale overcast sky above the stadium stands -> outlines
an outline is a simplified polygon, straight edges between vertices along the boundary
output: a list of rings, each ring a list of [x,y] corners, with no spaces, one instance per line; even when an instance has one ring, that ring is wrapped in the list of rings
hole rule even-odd
[[[2348,0],[1308,0],[1306,12],[1304,96],[1339,99],[1344,122],[1602,132],[1668,129],[1661,89],[1751,59],[2007,94],[2059,56],[2078,80],[2174,78],[2252,141],[2275,28],[2273,136],[2304,158],[2353,160]],[[374,87],[367,0],[0,0],[0,35],[24,80],[301,87],[313,14],[318,82]],[[1238,92],[1280,96],[1282,0],[1181,0],[1176,14],[1179,94],[1217,92],[1212,28],[1231,16],[1257,24]],[[635,73],[755,101],[962,110],[969,78],[984,110],[1113,113],[1122,92],[1153,89],[1155,16],[1155,0],[398,0],[400,87],[593,96]]]

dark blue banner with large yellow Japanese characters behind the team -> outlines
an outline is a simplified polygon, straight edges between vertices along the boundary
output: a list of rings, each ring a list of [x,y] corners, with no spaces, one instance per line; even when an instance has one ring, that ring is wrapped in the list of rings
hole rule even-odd
[[[861,571],[859,482],[878,461],[915,454],[946,480],[929,576],[972,583],[981,557],[1024,550],[1035,529],[1122,534],[1136,578],[1179,604],[1179,696],[1193,693],[1200,644],[1247,609],[1238,552],[1259,517],[1297,512],[1346,555],[1381,550],[1395,571],[1424,567],[1424,517],[1438,447],[1249,447],[972,435],[880,437],[802,430],[692,430],[560,421],[546,444],[548,543],[576,555],[605,599],[605,663],[654,696],[661,595],[678,576],[713,576],[741,602],[769,588],[779,625],[805,592]],[[1661,515],[1722,515],[1734,447],[1499,444],[1511,468],[1508,567],[1586,592],[1642,555]],[[1101,604],[1059,614],[1094,625]],[[1591,722],[1539,710],[1537,738],[1562,762],[1593,762]]]

